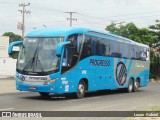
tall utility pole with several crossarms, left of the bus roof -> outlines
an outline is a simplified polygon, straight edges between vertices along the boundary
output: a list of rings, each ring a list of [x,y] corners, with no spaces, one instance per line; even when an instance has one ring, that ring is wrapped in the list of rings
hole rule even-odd
[[[18,10],[22,14],[22,23],[21,23],[21,28],[20,28],[20,30],[22,30],[22,38],[24,38],[24,33],[25,33],[25,14],[30,14],[31,13],[30,10],[26,10],[25,9],[25,7],[29,6],[29,5],[30,5],[30,3],[27,3],[27,4],[21,3],[21,4],[19,4],[19,7],[22,7],[22,10]]]

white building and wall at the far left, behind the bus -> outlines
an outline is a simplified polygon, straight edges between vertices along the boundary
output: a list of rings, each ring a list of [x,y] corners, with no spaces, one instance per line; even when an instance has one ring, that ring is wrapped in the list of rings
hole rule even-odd
[[[0,78],[14,77],[16,73],[16,59],[8,55],[9,37],[0,37]]]

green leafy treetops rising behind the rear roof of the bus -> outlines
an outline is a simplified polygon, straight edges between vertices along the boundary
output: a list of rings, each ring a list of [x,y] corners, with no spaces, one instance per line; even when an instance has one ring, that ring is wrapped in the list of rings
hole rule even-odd
[[[138,28],[132,22],[120,26],[117,26],[115,23],[111,23],[106,26],[106,30],[113,34],[117,34],[147,45],[156,41],[156,38],[154,37],[155,33],[153,31],[150,31],[148,28]]]

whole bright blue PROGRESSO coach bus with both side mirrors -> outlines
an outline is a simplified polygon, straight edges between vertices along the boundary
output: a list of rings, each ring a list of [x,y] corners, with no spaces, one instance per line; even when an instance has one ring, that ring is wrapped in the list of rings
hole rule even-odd
[[[126,89],[148,85],[150,48],[107,31],[90,28],[43,28],[26,34],[16,66],[16,89],[49,94]]]

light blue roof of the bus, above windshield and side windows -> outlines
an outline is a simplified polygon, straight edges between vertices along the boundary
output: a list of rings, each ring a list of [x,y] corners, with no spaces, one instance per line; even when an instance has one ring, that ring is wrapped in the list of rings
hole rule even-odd
[[[84,28],[84,27],[52,27],[52,28],[39,28],[34,29],[27,33],[26,37],[58,37],[58,36],[68,36],[71,34],[90,34],[95,36],[101,36],[103,38],[109,38],[114,41],[125,42],[137,46],[142,46],[149,48],[148,45],[144,45],[128,38],[124,38],[118,35],[111,34],[107,31],[100,31],[97,29]]]

